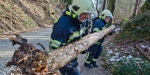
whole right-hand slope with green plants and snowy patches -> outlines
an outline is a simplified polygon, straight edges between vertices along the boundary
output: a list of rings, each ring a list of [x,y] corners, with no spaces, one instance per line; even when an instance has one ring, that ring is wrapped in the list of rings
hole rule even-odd
[[[141,12],[118,23],[116,26],[122,30],[104,44],[103,66],[113,75],[150,74],[149,4],[146,0]]]

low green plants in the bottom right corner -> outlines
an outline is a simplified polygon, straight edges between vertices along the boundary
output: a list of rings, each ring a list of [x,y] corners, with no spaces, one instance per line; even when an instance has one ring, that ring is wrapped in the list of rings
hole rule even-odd
[[[114,64],[113,75],[149,75],[150,63],[135,59],[124,59]]]

